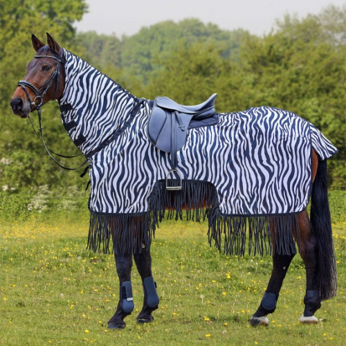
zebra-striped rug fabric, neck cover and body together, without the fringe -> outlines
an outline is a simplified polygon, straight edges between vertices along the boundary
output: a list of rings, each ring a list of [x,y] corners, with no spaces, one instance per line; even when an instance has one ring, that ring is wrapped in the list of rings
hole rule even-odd
[[[68,134],[89,158],[91,213],[147,215],[157,183],[170,171],[169,154],[147,136],[149,100],[138,100],[79,57],[63,53],[66,87],[60,104],[71,109],[62,111],[62,120],[75,124]],[[218,215],[293,215],[309,202],[312,148],[321,160],[337,152],[307,120],[254,107],[221,113],[217,125],[190,129],[177,167],[184,181],[214,188]]]

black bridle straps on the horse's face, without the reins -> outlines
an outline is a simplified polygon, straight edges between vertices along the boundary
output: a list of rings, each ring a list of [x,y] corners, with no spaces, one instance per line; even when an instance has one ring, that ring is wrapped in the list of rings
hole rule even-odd
[[[30,102],[31,110],[33,110],[32,107],[36,107],[37,109],[39,109],[39,107],[42,107],[44,95],[46,95],[48,89],[53,84],[55,78],[56,78],[56,82],[57,83],[55,85],[55,93],[54,93],[53,99],[56,98],[56,96],[57,96],[57,87],[59,86],[60,66],[64,65],[64,61],[62,59],[59,59],[58,57],[54,57],[53,55],[34,55],[34,57],[36,57],[36,58],[48,57],[48,58],[51,58],[51,59],[55,59],[55,60],[57,60],[58,64],[55,67],[55,70],[53,71],[53,73],[51,74],[51,77],[48,78],[46,83],[44,83],[44,85],[40,89],[37,89],[37,87],[35,85],[33,85],[33,84],[29,83],[29,82],[26,82],[26,80],[19,80],[18,86],[21,86],[21,88],[25,91],[26,97],[28,98],[28,101]],[[30,95],[28,93],[28,89],[26,89],[26,87],[30,88],[35,93],[36,96],[35,96],[33,101],[31,101]],[[38,103],[37,103],[37,100],[38,100]]]

